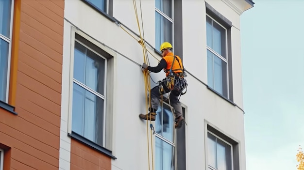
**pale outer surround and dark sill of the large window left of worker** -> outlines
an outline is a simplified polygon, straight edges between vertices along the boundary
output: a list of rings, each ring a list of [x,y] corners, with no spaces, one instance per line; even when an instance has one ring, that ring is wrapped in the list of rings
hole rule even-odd
[[[94,46],[94,49],[98,49],[100,55],[107,59],[107,81],[105,81],[105,91],[107,93],[107,104],[105,111],[104,125],[105,128],[103,129],[103,133],[105,134],[105,142],[103,146],[92,142],[91,140],[85,139],[83,136],[78,135],[77,133],[72,132],[72,97],[73,97],[73,70],[74,70],[74,50],[75,50],[75,40],[79,39],[84,44],[89,44]],[[78,140],[84,145],[103,153],[111,157],[112,159],[117,159],[114,155],[112,155],[112,145],[113,145],[113,117],[114,117],[114,89],[110,84],[115,83],[116,73],[114,72],[117,54],[112,51],[110,48],[103,46],[102,42],[98,41],[94,37],[86,34],[85,32],[79,30],[76,27],[71,27],[71,34],[70,34],[70,49],[69,49],[69,69],[68,69],[68,136],[72,139]],[[96,51],[96,50],[95,50]]]

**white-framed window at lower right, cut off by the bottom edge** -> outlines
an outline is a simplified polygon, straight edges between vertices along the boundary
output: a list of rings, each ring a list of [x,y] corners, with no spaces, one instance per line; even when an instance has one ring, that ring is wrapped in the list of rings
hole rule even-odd
[[[232,145],[208,132],[209,170],[232,170]]]

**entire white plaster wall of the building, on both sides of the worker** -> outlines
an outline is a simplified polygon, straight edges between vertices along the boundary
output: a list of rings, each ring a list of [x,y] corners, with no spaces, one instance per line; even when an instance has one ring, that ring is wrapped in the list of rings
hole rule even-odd
[[[206,0],[220,14],[228,18],[232,24],[233,54],[233,87],[234,102],[242,108],[241,56],[239,15],[222,0]],[[139,1],[137,0],[137,6]],[[132,0],[114,0],[113,15],[133,31],[138,32]],[[142,0],[144,31],[146,40],[154,45],[155,10],[153,0]],[[138,14],[140,11],[138,9]],[[193,17],[195,16],[195,17]],[[65,0],[65,18],[86,34],[101,43],[114,48],[136,63],[143,60],[142,47],[118,25],[108,20],[81,0]],[[66,27],[66,24],[68,25]],[[186,69],[207,83],[207,58],[205,40],[205,2],[203,0],[183,1],[183,60]],[[64,66],[70,51],[70,24],[65,21]],[[69,30],[68,30],[69,29]],[[139,40],[139,38],[138,38]],[[155,47],[158,49],[158,47]],[[152,51],[150,47],[149,50]],[[179,54],[176,54],[179,55]],[[154,54],[154,56],[157,56]],[[157,57],[160,60],[160,57]],[[151,65],[157,60],[149,54]],[[117,54],[115,58],[114,78],[114,112],[113,112],[113,143],[112,152],[118,159],[112,159],[113,170],[145,170],[148,169],[147,129],[146,122],[138,118],[139,113],[146,112],[144,77],[141,69],[134,62]],[[64,71],[67,68],[64,67]],[[66,73],[63,72],[67,78]],[[154,81],[165,77],[164,72],[151,73]],[[245,170],[245,145],[243,113],[226,100],[208,90],[201,82],[188,75],[189,87],[181,97],[186,106],[186,165],[187,170],[204,169],[205,164],[205,125],[204,121],[217,126],[223,133],[240,142],[241,170]],[[152,83],[151,87],[154,84]],[[70,140],[64,130],[67,124],[67,90],[63,80],[62,103],[62,142],[61,148],[68,148]],[[65,90],[65,91],[64,91]],[[154,123],[153,123],[154,125]],[[150,128],[149,128],[150,132]],[[150,135],[149,135],[150,136]],[[153,141],[155,141],[153,136]],[[150,142],[150,139],[149,139]],[[153,145],[155,149],[155,145]],[[69,151],[69,150],[67,150]],[[150,152],[151,153],[151,152]],[[155,155],[155,150],[153,150]],[[62,159],[64,160],[64,159]],[[69,157],[65,160],[69,161]],[[62,161],[64,162],[64,161]],[[152,161],[150,160],[150,163]],[[154,158],[155,163],[155,158]],[[61,166],[62,165],[62,166]],[[63,170],[68,167],[60,163]],[[152,165],[151,165],[152,167]],[[155,167],[155,166],[154,166]]]

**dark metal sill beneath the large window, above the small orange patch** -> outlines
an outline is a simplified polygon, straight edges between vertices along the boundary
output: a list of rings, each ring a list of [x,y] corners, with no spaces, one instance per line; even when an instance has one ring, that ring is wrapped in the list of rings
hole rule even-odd
[[[106,148],[92,142],[91,140],[85,139],[84,137],[78,135],[75,132],[72,132],[72,134],[68,134],[69,137],[76,139],[82,143],[84,143],[85,145],[88,145],[89,147],[91,147],[92,149],[101,152],[104,155],[107,155],[109,157],[111,157],[112,159],[117,159],[117,157],[115,157],[114,155],[112,155],[112,152],[107,150]]]

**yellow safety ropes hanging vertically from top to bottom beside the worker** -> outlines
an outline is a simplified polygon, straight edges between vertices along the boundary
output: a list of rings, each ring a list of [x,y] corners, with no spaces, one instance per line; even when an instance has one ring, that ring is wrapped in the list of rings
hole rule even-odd
[[[141,30],[140,30],[140,24],[139,24],[139,19],[138,19],[138,14],[137,14],[137,5],[136,5],[136,0],[133,0],[133,5],[134,5],[134,10],[135,10],[135,17],[136,17],[136,22],[137,22],[137,26],[138,26],[138,31],[139,31],[139,36],[140,36],[140,41],[139,44],[141,44],[142,49],[143,49],[143,57],[144,57],[144,62],[147,63],[148,59],[148,53],[147,53],[147,47],[145,44],[145,41],[143,40],[143,37],[141,36]],[[141,10],[141,1],[140,1],[140,15],[141,15],[141,22],[142,22],[142,29],[143,28],[143,19],[142,19],[142,10]],[[125,30],[126,31],[126,30]],[[131,35],[131,34],[129,34]],[[144,31],[143,31],[143,36],[144,36]],[[144,73],[144,81],[145,81],[145,96],[146,96],[146,120],[147,120],[147,145],[148,145],[148,166],[149,166],[149,170],[150,170],[150,145],[149,145],[149,128],[148,128],[148,106],[150,106],[151,104],[151,95],[149,95],[149,99],[148,99],[148,94],[147,91],[149,90],[149,94],[151,94],[151,88],[150,88],[150,74],[148,70],[143,70]],[[151,106],[150,106],[151,108]],[[154,170],[154,164],[153,164],[153,145],[152,145],[152,130],[154,130],[152,127],[152,121],[151,121],[151,116],[152,114],[150,114],[150,127],[151,127],[151,155],[152,155],[152,170]]]

